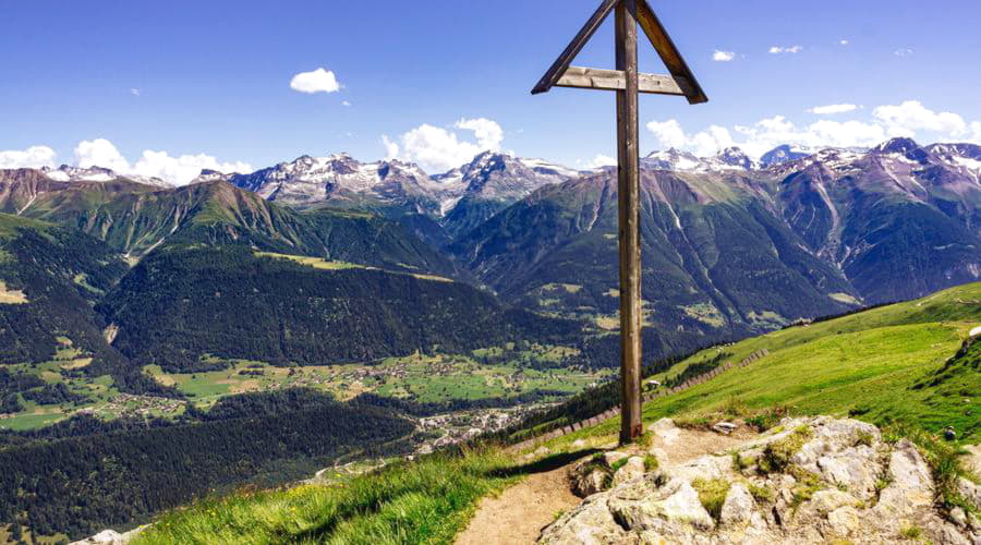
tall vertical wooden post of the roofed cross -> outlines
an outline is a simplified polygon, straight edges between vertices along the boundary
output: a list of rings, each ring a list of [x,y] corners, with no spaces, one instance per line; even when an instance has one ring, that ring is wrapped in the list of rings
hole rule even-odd
[[[617,90],[617,159],[620,240],[620,443],[643,434],[641,421],[640,150],[638,146],[637,0],[616,7],[617,70],[627,75]]]

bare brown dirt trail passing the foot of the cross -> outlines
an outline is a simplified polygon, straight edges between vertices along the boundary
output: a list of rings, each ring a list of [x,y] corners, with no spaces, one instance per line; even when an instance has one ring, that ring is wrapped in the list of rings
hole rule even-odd
[[[731,435],[714,432],[670,427],[654,429],[651,448],[661,448],[667,453],[670,465],[685,463],[700,456],[726,450],[744,443],[758,434],[742,425]],[[614,445],[604,446],[613,450]],[[619,449],[625,452],[639,447]],[[562,460],[552,462],[553,467],[541,471],[529,469],[528,476],[520,483],[505,489],[497,497],[481,500],[470,525],[461,533],[456,545],[526,545],[537,541],[538,534],[556,519],[556,513],[572,509],[582,501],[569,489],[569,470],[578,460],[596,452],[588,449],[581,456],[559,456]],[[546,458],[538,463],[548,463]],[[534,465],[534,464],[533,464]]]

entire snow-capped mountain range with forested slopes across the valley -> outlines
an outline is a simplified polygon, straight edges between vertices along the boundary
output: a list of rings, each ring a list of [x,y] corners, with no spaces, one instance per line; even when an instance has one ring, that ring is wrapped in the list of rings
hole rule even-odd
[[[981,277],[979,146],[896,138],[872,149],[782,146],[759,161],[729,148],[642,162],[652,356]],[[89,310],[72,324],[89,352],[172,368],[216,353],[313,363],[468,350],[521,330],[529,340],[611,339],[616,203],[615,168],[491,152],[435,175],[341,154],[249,174],[203,171],[181,187],[101,168],[3,170],[0,214],[12,227],[0,250],[12,257],[0,278],[28,302],[0,313],[11,323],[48,301],[32,318],[45,344],[65,328],[50,325],[53,303],[39,295],[74,289]],[[58,255],[72,245],[104,257]],[[38,270],[55,263],[64,272],[44,280]],[[93,269],[100,263],[106,271]],[[323,290],[295,292],[305,282]],[[274,310],[275,296],[246,301],[244,287],[296,302]],[[371,304],[372,290],[393,299]],[[455,319],[487,326],[440,327]],[[94,330],[111,335],[99,341]],[[229,338],[254,342],[232,350]],[[17,358],[53,351],[35,344]]]

